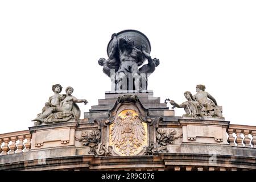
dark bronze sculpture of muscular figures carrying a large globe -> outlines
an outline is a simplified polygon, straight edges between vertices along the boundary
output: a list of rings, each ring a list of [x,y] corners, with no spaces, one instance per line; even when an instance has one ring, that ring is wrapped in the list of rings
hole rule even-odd
[[[98,64],[110,77],[114,90],[147,90],[148,76],[159,65],[159,59],[150,56],[147,37],[137,30],[125,30],[112,35],[108,44],[108,59]],[[147,64],[143,64],[147,60]]]

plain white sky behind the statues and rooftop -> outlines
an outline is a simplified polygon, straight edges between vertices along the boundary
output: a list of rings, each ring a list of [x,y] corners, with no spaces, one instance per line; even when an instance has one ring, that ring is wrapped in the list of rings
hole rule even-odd
[[[148,89],[161,102],[180,104],[204,84],[226,121],[255,125],[255,9],[256,1],[234,0],[0,1],[0,133],[33,126],[53,84],[86,98],[82,113],[97,105],[110,90],[97,60],[126,29],[143,32],[160,59]]]

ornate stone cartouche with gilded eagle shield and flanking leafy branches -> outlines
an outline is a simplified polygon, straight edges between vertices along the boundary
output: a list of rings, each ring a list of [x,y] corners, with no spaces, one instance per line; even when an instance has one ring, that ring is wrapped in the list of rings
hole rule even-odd
[[[168,144],[182,137],[177,129],[159,127],[162,119],[148,114],[136,95],[125,94],[117,98],[108,118],[95,119],[97,127],[76,140],[97,156],[157,155],[168,152]]]

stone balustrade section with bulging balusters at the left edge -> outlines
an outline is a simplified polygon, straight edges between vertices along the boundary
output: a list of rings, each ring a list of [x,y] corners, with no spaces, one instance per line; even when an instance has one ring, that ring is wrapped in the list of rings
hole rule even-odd
[[[31,147],[29,130],[0,134],[0,154],[10,155],[27,152]]]

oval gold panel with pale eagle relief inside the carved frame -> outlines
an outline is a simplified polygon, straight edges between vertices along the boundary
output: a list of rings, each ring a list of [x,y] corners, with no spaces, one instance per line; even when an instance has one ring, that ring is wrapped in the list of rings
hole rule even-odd
[[[135,155],[143,149],[146,142],[146,125],[133,110],[118,114],[110,128],[110,142],[121,155]]]

